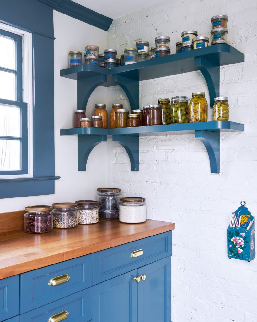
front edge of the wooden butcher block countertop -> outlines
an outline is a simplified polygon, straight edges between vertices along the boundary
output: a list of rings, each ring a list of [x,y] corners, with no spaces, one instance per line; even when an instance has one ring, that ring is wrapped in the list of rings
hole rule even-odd
[[[134,242],[142,238],[150,237],[163,232],[172,231],[174,229],[175,229],[174,223],[166,223],[166,225],[161,227],[155,227],[152,229],[147,229],[142,232],[132,233],[125,236],[119,236],[117,238],[110,236],[110,239],[108,239],[108,242],[105,242],[105,243],[102,243],[101,241],[96,240],[90,245],[86,245],[83,247],[75,247],[74,249],[69,249],[56,254],[51,254],[49,256],[47,256],[47,251],[40,251],[40,256],[41,256],[40,258],[35,258],[33,260],[28,260],[25,262],[23,261],[20,264],[14,264],[14,265],[0,268],[0,279],[25,273],[30,270],[35,270],[52,264],[56,264],[65,260],[70,260],[76,257],[88,255],[96,251],[102,251],[111,247],[126,244],[128,242]],[[96,250],[92,251],[92,248],[94,248],[94,246]],[[26,255],[24,254],[23,256],[21,256],[23,260],[24,260],[24,256]],[[19,258],[20,256],[15,256],[15,257]]]

